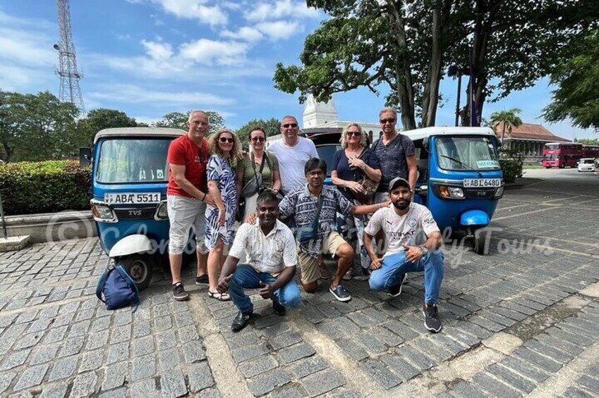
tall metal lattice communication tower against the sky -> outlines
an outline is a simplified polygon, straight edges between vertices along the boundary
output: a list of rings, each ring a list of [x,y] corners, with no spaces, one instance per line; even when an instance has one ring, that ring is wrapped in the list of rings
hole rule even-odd
[[[56,0],[56,10],[59,15],[60,42],[54,44],[54,49],[59,51],[60,66],[56,69],[56,75],[60,76],[59,98],[61,102],[71,102],[81,111],[82,115],[85,115],[85,106],[83,106],[83,97],[79,88],[79,80],[83,75],[77,70],[68,0]]]

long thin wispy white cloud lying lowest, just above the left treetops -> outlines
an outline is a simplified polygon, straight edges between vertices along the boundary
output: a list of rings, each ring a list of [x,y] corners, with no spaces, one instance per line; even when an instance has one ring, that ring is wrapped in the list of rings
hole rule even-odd
[[[152,91],[135,85],[104,85],[102,91],[90,92],[88,96],[97,101],[109,100],[127,104],[155,103],[160,106],[231,105],[231,98],[219,97],[206,92]]]

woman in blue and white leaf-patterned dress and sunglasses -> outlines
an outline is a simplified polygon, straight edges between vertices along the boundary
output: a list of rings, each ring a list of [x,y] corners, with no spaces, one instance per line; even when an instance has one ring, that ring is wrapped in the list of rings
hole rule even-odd
[[[217,291],[219,270],[223,262],[225,244],[233,243],[235,212],[237,210],[236,171],[241,143],[229,130],[219,130],[208,139],[212,153],[206,168],[208,190],[214,205],[206,206],[206,238],[208,253],[208,295],[220,301],[229,300],[229,294]]]

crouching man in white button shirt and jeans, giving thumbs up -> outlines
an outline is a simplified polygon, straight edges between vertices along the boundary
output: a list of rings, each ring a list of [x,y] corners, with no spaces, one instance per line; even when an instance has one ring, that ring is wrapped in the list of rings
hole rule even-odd
[[[218,291],[229,291],[229,297],[239,310],[231,324],[238,332],[246,327],[253,313],[253,304],[243,289],[258,289],[260,296],[272,300],[272,309],[279,316],[285,307],[300,304],[300,291],[294,280],[298,263],[296,240],[293,232],[277,220],[279,202],[271,192],[258,196],[256,203],[258,223],[244,223],[239,227],[229,256],[219,278]],[[246,263],[237,264],[242,254]]]

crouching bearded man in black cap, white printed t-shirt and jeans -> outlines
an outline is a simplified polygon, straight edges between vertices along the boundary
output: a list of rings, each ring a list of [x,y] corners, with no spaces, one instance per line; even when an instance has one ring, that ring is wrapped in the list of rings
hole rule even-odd
[[[389,296],[401,294],[406,273],[424,273],[424,325],[430,332],[442,328],[437,312],[439,291],[443,280],[441,232],[430,211],[421,204],[412,203],[410,184],[397,177],[389,182],[392,206],[374,213],[364,230],[364,247],[370,256],[370,290],[385,290]],[[377,232],[385,232],[387,251],[378,258],[373,247]]]

